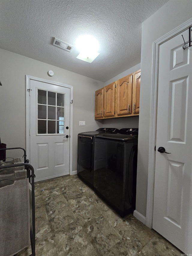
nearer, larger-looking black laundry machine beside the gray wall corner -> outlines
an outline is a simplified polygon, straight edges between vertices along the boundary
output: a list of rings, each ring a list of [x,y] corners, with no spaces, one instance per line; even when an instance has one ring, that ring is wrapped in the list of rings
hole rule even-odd
[[[122,217],[135,210],[138,129],[98,134],[94,145],[94,190]]]

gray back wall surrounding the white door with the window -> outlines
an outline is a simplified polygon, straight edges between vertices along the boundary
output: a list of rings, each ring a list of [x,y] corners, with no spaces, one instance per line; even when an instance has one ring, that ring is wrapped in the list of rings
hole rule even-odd
[[[0,49],[0,137],[7,147],[26,148],[26,75],[73,86],[73,170],[77,170],[77,134],[96,130],[95,91],[103,82]],[[54,72],[53,77],[47,71]],[[85,121],[85,126],[79,126]],[[18,153],[20,154],[20,152]],[[21,156],[11,154],[14,157]]]

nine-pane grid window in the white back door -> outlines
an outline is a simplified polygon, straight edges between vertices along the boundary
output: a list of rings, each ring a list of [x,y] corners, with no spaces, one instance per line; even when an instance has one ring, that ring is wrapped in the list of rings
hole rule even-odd
[[[38,134],[64,134],[64,98],[62,93],[38,89]]]

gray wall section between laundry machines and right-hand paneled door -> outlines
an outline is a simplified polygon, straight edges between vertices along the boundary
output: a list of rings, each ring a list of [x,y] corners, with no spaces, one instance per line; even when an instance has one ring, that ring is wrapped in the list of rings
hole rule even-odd
[[[170,0],[142,25],[136,210],[146,216],[153,42],[192,17],[192,1]]]

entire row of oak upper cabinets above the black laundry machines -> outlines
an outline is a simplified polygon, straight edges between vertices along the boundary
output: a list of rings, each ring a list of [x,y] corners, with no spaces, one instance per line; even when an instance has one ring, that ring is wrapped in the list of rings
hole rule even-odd
[[[95,119],[138,116],[141,70],[95,92]]]

